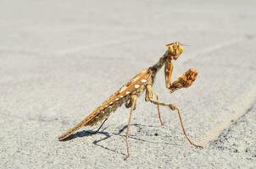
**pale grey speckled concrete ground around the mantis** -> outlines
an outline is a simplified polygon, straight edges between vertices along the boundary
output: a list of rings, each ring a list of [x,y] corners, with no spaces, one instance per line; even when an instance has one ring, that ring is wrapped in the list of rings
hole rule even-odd
[[[0,168],[255,168],[255,1],[0,1]],[[129,110],[103,132],[81,121],[143,68],[165,44],[189,44],[174,79],[197,68],[198,80],[170,95],[163,71],[154,89],[181,106],[178,117],[140,98],[125,158]]]

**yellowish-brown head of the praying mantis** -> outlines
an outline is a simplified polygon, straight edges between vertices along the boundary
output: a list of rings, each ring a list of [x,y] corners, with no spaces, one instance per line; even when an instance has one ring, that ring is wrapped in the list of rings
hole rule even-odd
[[[180,57],[181,53],[184,51],[184,47],[181,42],[174,42],[166,45],[168,47],[168,56],[171,60],[176,60]]]

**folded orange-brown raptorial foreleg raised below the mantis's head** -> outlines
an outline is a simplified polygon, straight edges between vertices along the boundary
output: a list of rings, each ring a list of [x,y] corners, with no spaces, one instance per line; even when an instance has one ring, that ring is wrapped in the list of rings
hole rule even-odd
[[[198,76],[198,71],[195,68],[189,68],[185,74],[182,74],[180,78],[171,82],[172,72],[174,65],[171,61],[166,61],[164,74],[165,74],[165,86],[171,92],[181,88],[187,88],[192,85]]]

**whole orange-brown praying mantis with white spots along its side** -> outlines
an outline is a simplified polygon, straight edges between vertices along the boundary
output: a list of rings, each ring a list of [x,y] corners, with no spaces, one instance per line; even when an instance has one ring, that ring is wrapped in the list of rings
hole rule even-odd
[[[175,90],[179,90],[181,88],[190,87],[198,76],[198,71],[195,68],[189,68],[185,74],[182,74],[178,79],[172,82],[171,77],[174,68],[174,62],[178,59],[178,57],[180,57],[181,53],[184,51],[184,45],[181,44],[181,42],[176,41],[167,44],[166,46],[167,51],[162,57],[160,57],[158,63],[154,64],[152,67],[144,69],[141,73],[137,74],[128,83],[123,85],[120,90],[117,90],[114,95],[111,95],[107,101],[104,101],[103,104],[98,106],[93,112],[85,117],[81,121],[81,123],[76,124],[75,127],[70,128],[66,133],[59,136],[58,140],[67,139],[71,134],[74,134],[81,127],[93,126],[98,122],[102,121],[103,123],[105,123],[108,120],[111,112],[115,112],[118,107],[125,104],[126,108],[130,108],[130,116],[125,135],[125,144],[127,151],[127,155],[125,157],[126,160],[130,156],[128,137],[130,134],[132,115],[134,110],[136,109],[136,101],[138,97],[142,94],[144,90],[146,90],[145,101],[149,101],[157,106],[159,122],[161,123],[161,125],[163,125],[163,121],[161,119],[159,106],[167,106],[170,108],[171,111],[176,110],[181,123],[182,132],[185,135],[187,141],[197,148],[203,148],[201,145],[194,144],[193,141],[186,134],[186,129],[183,125],[180,108],[171,103],[159,101],[159,96],[156,95],[156,93],[153,91],[153,84],[156,74],[158,74],[159,69],[161,69],[163,66],[165,75],[165,86],[168,90],[170,90],[170,93],[173,93]],[[100,128],[103,127],[103,123],[100,125],[96,132],[98,132]]]

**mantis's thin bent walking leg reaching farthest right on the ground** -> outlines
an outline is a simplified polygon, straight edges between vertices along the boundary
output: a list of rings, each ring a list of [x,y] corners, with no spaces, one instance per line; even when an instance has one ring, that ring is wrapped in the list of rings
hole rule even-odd
[[[173,104],[170,104],[170,103],[165,103],[165,102],[162,102],[162,101],[154,101],[153,100],[153,97],[151,95],[153,95],[153,89],[152,89],[152,85],[147,85],[147,94],[148,94],[148,101],[152,102],[153,104],[157,105],[157,106],[168,106],[172,111],[175,111],[177,110],[178,112],[178,115],[179,115],[179,119],[180,119],[180,123],[181,123],[181,128],[182,128],[182,131],[183,131],[183,134],[185,135],[186,139],[188,140],[188,142],[198,148],[203,148],[201,145],[198,145],[198,144],[194,144],[192,142],[191,139],[189,139],[189,137],[187,136],[186,134],[186,129],[184,128],[184,125],[183,125],[183,120],[182,120],[182,117],[181,117],[181,110],[180,108],[178,108],[178,106],[175,106]]]

